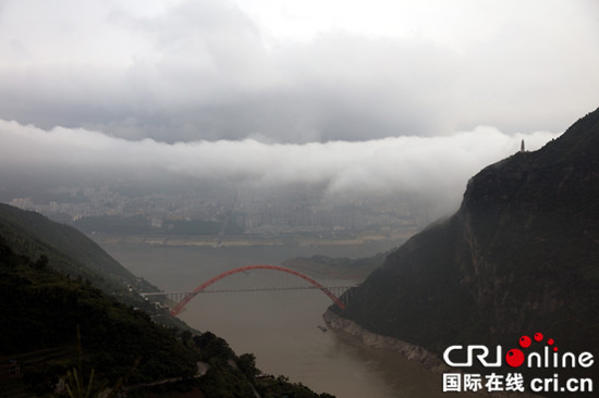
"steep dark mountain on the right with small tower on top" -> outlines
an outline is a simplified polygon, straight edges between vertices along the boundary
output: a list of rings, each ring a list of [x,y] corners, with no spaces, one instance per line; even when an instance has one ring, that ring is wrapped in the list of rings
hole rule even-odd
[[[599,110],[486,167],[457,213],[390,254],[340,314],[436,353],[539,331],[599,347],[598,158]]]

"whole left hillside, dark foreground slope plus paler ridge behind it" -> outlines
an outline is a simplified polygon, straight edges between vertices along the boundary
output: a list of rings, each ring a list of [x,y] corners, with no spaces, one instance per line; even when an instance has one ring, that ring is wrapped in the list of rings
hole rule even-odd
[[[133,398],[319,397],[284,377],[256,378],[253,355],[157,309],[136,282],[145,288],[75,229],[0,204],[0,396],[96,397],[122,386]]]

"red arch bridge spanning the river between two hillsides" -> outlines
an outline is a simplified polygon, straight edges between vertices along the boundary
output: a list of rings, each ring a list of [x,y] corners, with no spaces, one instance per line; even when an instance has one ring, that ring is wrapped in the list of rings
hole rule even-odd
[[[302,278],[309,283],[307,286],[289,286],[289,287],[282,287],[282,286],[270,286],[270,287],[254,287],[254,288],[222,288],[222,289],[208,289],[208,287],[220,279],[223,279],[228,276],[231,276],[233,274],[237,274],[241,272],[249,272],[254,270],[270,270],[270,271],[279,271],[284,272],[288,274],[291,274],[293,276],[296,276],[298,278]],[[304,275],[297,271],[290,270],[283,266],[278,265],[246,265],[246,266],[240,266],[234,270],[230,270],[227,272],[223,272],[222,274],[219,274],[198,287],[196,287],[192,291],[151,291],[151,293],[142,293],[140,295],[144,297],[148,296],[166,296],[170,302],[174,302],[174,304],[171,308],[171,314],[178,315],[185,306],[192,301],[194,297],[196,297],[199,294],[208,294],[208,293],[233,293],[233,291],[265,291],[265,290],[304,290],[304,289],[319,289],[325,295],[327,295],[339,308],[344,309],[345,303],[347,300],[347,295],[343,295],[346,290],[355,286],[323,286],[317,281],[313,279],[311,277]],[[342,298],[340,298],[342,297]]]

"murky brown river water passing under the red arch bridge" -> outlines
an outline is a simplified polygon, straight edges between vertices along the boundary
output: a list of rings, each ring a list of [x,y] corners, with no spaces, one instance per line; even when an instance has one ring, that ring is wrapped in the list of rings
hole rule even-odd
[[[164,291],[194,289],[210,277],[242,265],[280,265],[284,260],[313,254],[359,258],[396,246],[377,242],[351,247],[213,248],[97,241],[131,272]],[[249,274],[236,274],[218,284],[223,288],[235,284],[252,288],[265,283],[278,285],[282,276],[294,278],[273,271]],[[347,281],[319,282],[347,285]],[[302,283],[297,281],[298,285]],[[447,396],[441,391],[441,376],[419,364],[382,349],[365,347],[342,332],[320,331],[321,315],[330,304],[331,300],[320,290],[205,294],[194,298],[179,316],[194,328],[223,337],[237,355],[253,352],[262,372],[285,375],[317,393],[339,398]]]

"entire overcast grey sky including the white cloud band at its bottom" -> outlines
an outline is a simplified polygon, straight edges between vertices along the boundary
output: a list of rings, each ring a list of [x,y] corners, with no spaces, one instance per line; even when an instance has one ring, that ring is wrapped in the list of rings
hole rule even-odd
[[[461,191],[599,105],[599,2],[0,0],[0,54],[4,164],[151,156],[332,189],[428,178],[443,151]]]

